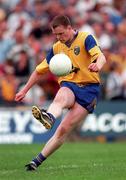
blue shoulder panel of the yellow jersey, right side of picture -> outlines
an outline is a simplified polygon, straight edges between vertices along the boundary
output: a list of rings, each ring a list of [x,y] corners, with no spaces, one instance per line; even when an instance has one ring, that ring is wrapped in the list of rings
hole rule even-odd
[[[86,51],[89,51],[90,49],[92,49],[96,45],[97,45],[97,43],[96,43],[96,40],[94,39],[94,37],[92,35],[88,35],[85,39]]]

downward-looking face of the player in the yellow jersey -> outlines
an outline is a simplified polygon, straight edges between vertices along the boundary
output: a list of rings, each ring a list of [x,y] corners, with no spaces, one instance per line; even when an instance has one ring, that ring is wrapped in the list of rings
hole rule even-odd
[[[62,25],[52,29],[53,34],[58,41],[65,43],[71,39],[71,26],[64,27]]]

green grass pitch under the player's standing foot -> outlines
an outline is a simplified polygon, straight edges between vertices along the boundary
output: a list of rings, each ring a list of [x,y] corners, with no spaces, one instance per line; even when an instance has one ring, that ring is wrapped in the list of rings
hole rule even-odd
[[[66,143],[36,172],[24,165],[40,144],[0,145],[1,180],[125,180],[126,143]]]

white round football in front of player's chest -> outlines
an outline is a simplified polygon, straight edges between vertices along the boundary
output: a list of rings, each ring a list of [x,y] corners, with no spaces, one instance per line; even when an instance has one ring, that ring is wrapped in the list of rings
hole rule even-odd
[[[56,76],[66,76],[72,70],[72,62],[66,54],[56,54],[49,62],[49,69]]]

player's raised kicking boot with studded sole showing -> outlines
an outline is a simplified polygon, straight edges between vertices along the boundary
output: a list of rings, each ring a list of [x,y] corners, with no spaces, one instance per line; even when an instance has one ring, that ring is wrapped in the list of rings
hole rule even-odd
[[[51,129],[54,120],[51,118],[50,114],[47,113],[45,110],[39,109],[37,106],[32,107],[32,114],[33,116],[45,126],[46,129]]]

